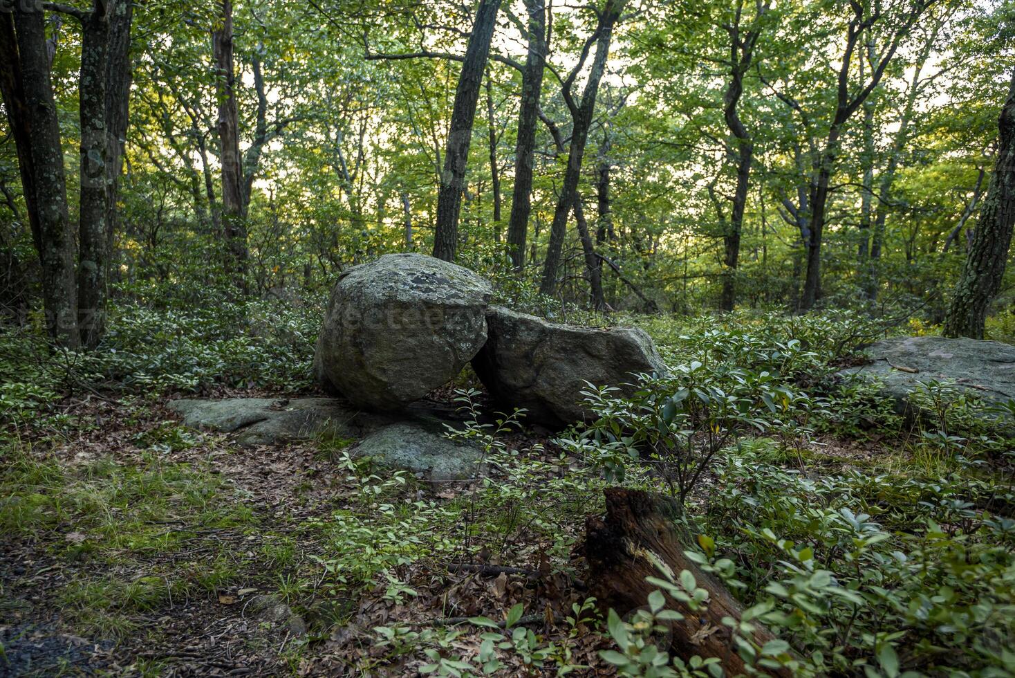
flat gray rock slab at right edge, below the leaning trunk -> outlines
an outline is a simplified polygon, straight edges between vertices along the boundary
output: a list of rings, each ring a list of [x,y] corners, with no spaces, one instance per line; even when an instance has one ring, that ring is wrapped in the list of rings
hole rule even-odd
[[[870,364],[848,367],[840,375],[877,378],[883,392],[903,409],[921,384],[948,382],[970,395],[1006,402],[1015,399],[1015,346],[1000,341],[895,337],[867,349]]]

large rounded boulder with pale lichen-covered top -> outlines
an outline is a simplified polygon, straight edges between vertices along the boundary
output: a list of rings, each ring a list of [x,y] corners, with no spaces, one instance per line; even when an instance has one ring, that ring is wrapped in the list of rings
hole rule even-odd
[[[345,271],[332,289],[314,357],[329,392],[398,410],[446,384],[486,341],[492,288],[472,271],[417,254]]]

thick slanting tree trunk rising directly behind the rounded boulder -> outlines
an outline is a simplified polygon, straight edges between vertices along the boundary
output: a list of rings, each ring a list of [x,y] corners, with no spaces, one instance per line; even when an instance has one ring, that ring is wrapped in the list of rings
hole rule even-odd
[[[455,90],[444,171],[441,173],[441,192],[437,195],[436,232],[433,235],[433,256],[445,261],[454,261],[458,249],[458,215],[462,209],[462,192],[465,190],[472,124],[476,118],[479,87],[486,70],[486,59],[499,9],[500,0],[479,0],[476,20],[469,36],[469,46],[465,50],[462,72]]]

